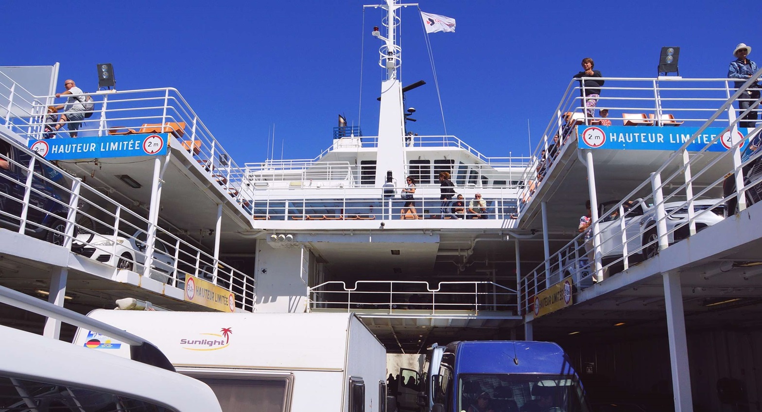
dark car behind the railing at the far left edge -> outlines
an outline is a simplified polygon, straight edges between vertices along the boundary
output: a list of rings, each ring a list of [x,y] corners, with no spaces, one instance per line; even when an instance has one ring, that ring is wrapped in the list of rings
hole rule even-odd
[[[0,154],[0,160],[4,161],[3,167],[0,167],[0,227],[18,231],[21,227],[28,175],[27,168],[22,168],[19,164],[29,164],[32,155],[2,139]],[[5,158],[10,159],[7,168]],[[35,162],[34,172],[24,233],[53,244],[63,244],[62,233],[66,231],[69,193],[50,182],[58,182],[66,187],[66,179],[41,162]]]

